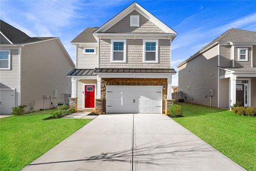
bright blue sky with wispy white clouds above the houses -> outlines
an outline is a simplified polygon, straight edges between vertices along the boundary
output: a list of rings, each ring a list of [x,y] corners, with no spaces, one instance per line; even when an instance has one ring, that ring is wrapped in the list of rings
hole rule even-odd
[[[133,1],[0,1],[0,18],[31,37],[60,37],[75,62],[70,41],[99,27]],[[172,65],[193,55],[229,28],[256,31],[256,1],[136,1],[178,32]],[[178,75],[173,78],[178,84]]]

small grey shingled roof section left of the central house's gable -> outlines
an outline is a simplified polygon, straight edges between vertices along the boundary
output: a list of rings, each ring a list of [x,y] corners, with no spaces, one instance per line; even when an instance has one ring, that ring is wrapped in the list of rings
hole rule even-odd
[[[98,27],[89,27],[86,28],[83,32],[81,32],[75,39],[71,41],[71,43],[79,43],[79,42],[97,42],[92,33],[97,30]]]

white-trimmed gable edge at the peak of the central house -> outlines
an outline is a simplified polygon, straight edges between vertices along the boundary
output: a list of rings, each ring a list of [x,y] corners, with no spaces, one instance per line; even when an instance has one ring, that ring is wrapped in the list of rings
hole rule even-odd
[[[134,10],[139,12],[141,15],[145,16],[145,18],[147,18],[150,22],[154,23],[158,28],[162,29],[165,33],[172,33],[174,35],[177,35],[177,32],[172,30],[162,21],[158,20],[154,15],[152,15],[147,10],[145,10],[145,8],[141,7],[139,4],[135,2],[129,5],[128,7],[126,7],[123,11],[119,12],[112,19],[110,19],[105,24],[103,24],[100,28],[95,30],[94,33],[107,31],[110,27],[112,27],[118,21],[122,20],[126,15],[128,15]]]

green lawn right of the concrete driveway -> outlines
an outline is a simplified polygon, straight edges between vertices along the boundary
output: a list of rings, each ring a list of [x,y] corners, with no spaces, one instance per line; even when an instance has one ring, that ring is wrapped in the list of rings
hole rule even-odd
[[[256,170],[256,117],[183,103],[184,117],[173,118],[247,170]]]

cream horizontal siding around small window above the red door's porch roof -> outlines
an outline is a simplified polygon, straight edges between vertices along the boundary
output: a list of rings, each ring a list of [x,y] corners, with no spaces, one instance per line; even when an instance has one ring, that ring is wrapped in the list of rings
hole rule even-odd
[[[77,69],[94,69],[98,66],[98,54],[85,55],[84,47],[77,47]],[[98,49],[96,48],[96,52]]]

